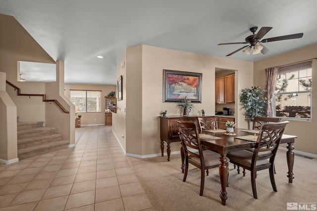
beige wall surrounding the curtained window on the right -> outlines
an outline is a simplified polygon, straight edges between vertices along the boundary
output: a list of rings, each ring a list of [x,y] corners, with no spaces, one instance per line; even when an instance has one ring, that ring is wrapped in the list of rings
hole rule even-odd
[[[265,87],[265,68],[275,67],[294,62],[299,62],[317,57],[317,44],[304,47],[298,50],[283,53],[254,63],[254,85]],[[317,78],[317,60],[313,60],[313,81]],[[312,121],[289,121],[285,133],[297,135],[295,150],[317,154],[317,142],[313,135],[316,129],[317,117],[317,92],[312,89]],[[285,147],[285,146],[283,146]]]

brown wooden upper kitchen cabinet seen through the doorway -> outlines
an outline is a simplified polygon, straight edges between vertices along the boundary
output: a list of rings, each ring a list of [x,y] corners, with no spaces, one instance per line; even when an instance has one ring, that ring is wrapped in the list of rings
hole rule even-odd
[[[235,75],[215,79],[215,103],[234,103]]]

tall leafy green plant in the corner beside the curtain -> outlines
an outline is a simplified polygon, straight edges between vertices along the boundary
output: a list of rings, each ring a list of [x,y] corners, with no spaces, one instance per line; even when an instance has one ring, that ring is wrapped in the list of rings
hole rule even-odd
[[[246,110],[243,115],[246,120],[250,122],[254,121],[254,117],[267,117],[264,106],[268,103],[266,97],[263,97],[265,89],[261,89],[260,86],[252,86],[252,88],[242,89],[240,96],[240,102],[243,104],[243,108]],[[251,125],[249,125],[251,128]]]

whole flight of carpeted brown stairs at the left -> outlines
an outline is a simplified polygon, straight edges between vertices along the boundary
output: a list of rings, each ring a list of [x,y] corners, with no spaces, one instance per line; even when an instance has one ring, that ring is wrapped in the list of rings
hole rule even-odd
[[[18,122],[19,160],[67,148],[69,141],[58,134],[57,127],[43,127],[44,122]]]

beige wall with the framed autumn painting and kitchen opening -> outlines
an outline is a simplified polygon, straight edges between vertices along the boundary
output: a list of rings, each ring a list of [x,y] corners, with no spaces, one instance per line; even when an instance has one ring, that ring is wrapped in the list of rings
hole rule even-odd
[[[203,74],[202,103],[195,104],[195,110],[190,115],[199,115],[202,109],[205,110],[206,115],[213,115],[215,68],[235,70],[238,82],[236,83],[237,124],[239,127],[248,127],[241,114],[242,108],[238,103],[238,95],[239,90],[253,85],[252,62],[147,45],[127,48],[126,59],[127,77],[123,80],[126,80],[126,88],[124,87],[123,91],[127,93],[126,152],[128,154],[159,155],[159,113],[167,110],[167,115],[179,115],[175,103],[163,102],[163,69]],[[120,126],[113,125],[112,127],[116,136],[121,137],[118,132]],[[179,143],[172,143],[171,151],[179,151]],[[166,143],[164,152],[166,152]]]

